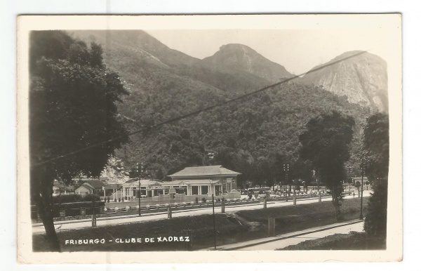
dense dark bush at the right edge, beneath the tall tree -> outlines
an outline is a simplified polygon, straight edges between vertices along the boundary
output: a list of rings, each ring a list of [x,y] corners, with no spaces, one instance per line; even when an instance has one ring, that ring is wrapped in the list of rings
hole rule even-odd
[[[386,238],[387,180],[380,180],[375,183],[373,190],[373,194],[368,199],[364,230],[371,236]]]

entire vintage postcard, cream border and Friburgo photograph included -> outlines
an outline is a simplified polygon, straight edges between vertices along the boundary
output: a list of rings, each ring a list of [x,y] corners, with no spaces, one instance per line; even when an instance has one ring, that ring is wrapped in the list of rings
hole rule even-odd
[[[19,16],[18,261],[401,260],[401,54],[400,14]]]

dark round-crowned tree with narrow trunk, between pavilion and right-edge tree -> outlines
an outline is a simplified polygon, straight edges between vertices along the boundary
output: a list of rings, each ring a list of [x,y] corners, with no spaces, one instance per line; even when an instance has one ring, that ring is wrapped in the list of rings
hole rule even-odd
[[[352,117],[333,111],[310,119],[305,126],[306,130],[299,136],[302,145],[300,156],[312,162],[321,181],[332,191],[338,220],[343,219],[340,212],[342,180],[347,176],[344,164],[349,159],[349,143],[352,141],[354,125]]]

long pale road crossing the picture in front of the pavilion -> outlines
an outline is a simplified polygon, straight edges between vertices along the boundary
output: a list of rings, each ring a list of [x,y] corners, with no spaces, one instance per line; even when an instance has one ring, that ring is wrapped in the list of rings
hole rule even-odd
[[[363,197],[368,197],[370,194],[365,192]],[[352,199],[353,196],[347,196],[345,199]],[[322,198],[322,201],[330,201],[330,197]],[[303,199],[297,200],[297,204],[309,204],[318,202],[318,198],[311,198],[311,199]],[[257,204],[248,204],[243,206],[225,206],[225,211],[232,212],[232,211],[241,211],[241,210],[253,210],[253,209],[262,209],[262,203]],[[279,206],[289,206],[293,205],[292,200],[288,201],[269,201],[267,203],[267,208],[276,208]],[[219,213],[220,208],[215,208],[215,213]],[[185,210],[185,211],[173,211],[173,218],[180,217],[180,216],[199,216],[203,214],[211,214],[212,208],[203,208],[203,209],[192,209],[192,210]],[[168,218],[167,213],[145,213],[142,216],[137,215],[129,215],[129,216],[114,216],[114,217],[107,217],[107,218],[97,218],[97,227],[105,226],[105,225],[119,225],[119,224],[126,224],[126,223],[137,223],[149,220],[159,220],[159,219],[166,219]],[[81,229],[86,227],[92,227],[91,220],[68,220],[68,221],[57,221],[54,223],[56,231],[57,230],[74,230],[74,229]],[[32,225],[32,233],[33,234],[41,234],[45,233],[44,225],[42,223],[37,223]]]

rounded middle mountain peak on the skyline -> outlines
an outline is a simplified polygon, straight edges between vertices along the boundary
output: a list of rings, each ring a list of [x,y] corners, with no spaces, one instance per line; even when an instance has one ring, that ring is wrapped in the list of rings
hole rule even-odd
[[[278,82],[282,78],[294,76],[282,65],[268,60],[243,44],[223,45],[218,52],[208,58],[204,58],[202,62],[214,68],[225,67],[229,70],[249,72],[272,83]]]

